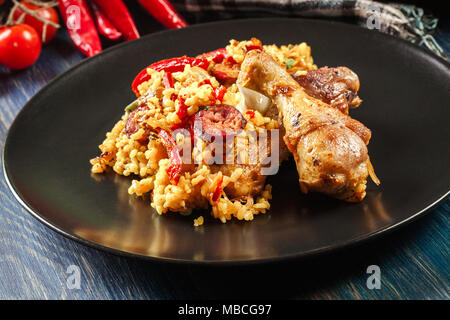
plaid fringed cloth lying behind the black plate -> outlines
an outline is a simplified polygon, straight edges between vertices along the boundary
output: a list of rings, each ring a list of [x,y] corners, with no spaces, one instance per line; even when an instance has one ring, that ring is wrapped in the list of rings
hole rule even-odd
[[[356,23],[428,48],[446,58],[433,38],[438,20],[413,5],[371,0],[172,0],[190,21],[206,22],[254,17],[321,17]]]

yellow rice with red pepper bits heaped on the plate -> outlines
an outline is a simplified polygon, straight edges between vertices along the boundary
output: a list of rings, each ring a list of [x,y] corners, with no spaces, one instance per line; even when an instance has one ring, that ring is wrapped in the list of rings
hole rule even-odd
[[[255,38],[231,40],[226,46],[225,55],[232,68],[238,68],[242,63],[249,46],[261,46],[280,65],[293,72],[317,68],[306,43],[262,46]],[[209,160],[215,155],[208,145],[212,141],[192,134],[192,130],[189,132],[186,123],[211,105],[239,105],[242,94],[235,79],[223,81],[218,78],[219,73],[214,72],[218,65],[215,57],[206,55],[201,59],[207,60],[207,67],[186,64],[176,72],[151,66],[145,69],[146,81],[135,88],[138,99],[106,134],[99,146],[101,155],[90,160],[91,171],[101,174],[112,168],[119,175],[132,177],[128,193],[131,196],[151,194],[150,205],[159,214],[189,214],[194,209],[210,208],[211,215],[223,223],[232,218],[253,220],[255,215],[270,209],[272,187],[264,184],[257,192],[248,192],[245,197],[240,195],[239,190],[246,187],[243,179],[253,179],[246,176],[246,170],[254,165],[251,156],[241,151],[248,150],[254,143],[246,133],[255,132],[253,138],[259,139],[263,131],[278,129],[280,122],[258,110],[244,112],[242,131],[232,139],[235,149],[240,150],[233,151],[232,157],[239,156],[242,162],[231,167],[211,164]],[[170,149],[161,137],[164,132],[173,133]],[[186,145],[191,152],[180,153],[183,163],[175,170],[172,151],[187,150],[184,149]],[[236,155],[239,152],[241,154]],[[190,161],[185,163],[185,158]],[[194,225],[202,225],[203,221],[200,216]]]

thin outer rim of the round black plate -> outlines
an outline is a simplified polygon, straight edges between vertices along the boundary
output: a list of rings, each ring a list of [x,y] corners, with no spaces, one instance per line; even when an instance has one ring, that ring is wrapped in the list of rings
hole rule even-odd
[[[282,22],[286,22],[286,21],[302,21],[302,22],[306,22],[306,23],[312,23],[312,24],[320,24],[320,25],[333,25],[333,24],[337,24],[343,27],[347,27],[350,29],[359,29],[359,30],[365,30],[364,32],[373,32],[373,30],[368,30],[366,28],[363,28],[361,26],[358,25],[352,25],[352,24],[348,24],[348,23],[343,23],[343,22],[338,22],[338,21],[332,21],[332,20],[324,20],[324,19],[305,19],[305,18],[280,18],[280,17],[271,17],[271,18],[251,18],[251,19],[233,19],[233,20],[223,20],[223,21],[214,21],[214,22],[207,22],[207,23],[199,23],[199,24],[195,24],[195,25],[190,25],[186,28],[183,29],[196,29],[196,28],[202,28],[204,26],[217,26],[217,25],[227,25],[230,23],[245,23],[245,22],[258,22],[258,21],[282,21]],[[181,29],[182,30],[182,29]],[[112,247],[107,247],[105,245],[84,239],[80,236],[77,236],[75,234],[69,233],[67,231],[64,231],[62,228],[58,227],[56,224],[52,223],[51,221],[48,221],[46,218],[44,218],[43,216],[41,216],[37,210],[34,211],[31,206],[24,200],[21,198],[20,196],[20,192],[18,190],[16,190],[15,186],[13,185],[13,183],[10,181],[10,178],[8,176],[8,169],[7,169],[7,165],[5,162],[5,154],[6,154],[6,149],[8,146],[8,141],[9,141],[9,137],[11,135],[11,129],[14,127],[16,120],[23,114],[24,110],[33,103],[34,100],[38,99],[38,97],[40,95],[42,95],[46,90],[48,90],[49,87],[51,87],[53,85],[54,82],[59,81],[60,79],[66,77],[67,75],[69,75],[74,69],[79,68],[80,66],[87,64],[87,63],[91,63],[92,61],[96,60],[96,59],[102,59],[105,55],[111,54],[113,52],[115,52],[116,50],[121,50],[123,47],[126,46],[131,46],[133,45],[133,43],[135,41],[148,41],[150,38],[158,36],[160,34],[167,34],[167,33],[176,33],[179,32],[180,29],[174,29],[174,30],[161,30],[158,32],[154,32],[154,33],[150,33],[147,34],[137,40],[134,41],[127,41],[127,42],[123,42],[117,45],[114,45],[110,48],[107,48],[106,50],[104,50],[103,52],[101,52],[100,54],[97,54],[93,57],[89,57],[89,58],[84,58],[83,60],[79,61],[78,63],[72,65],[70,68],[68,68],[67,70],[63,71],[62,73],[58,74],[56,77],[54,77],[53,79],[51,79],[49,82],[47,82],[41,89],[39,89],[38,92],[36,92],[24,105],[23,107],[19,110],[19,112],[16,114],[16,116],[14,117],[14,120],[11,122],[8,131],[5,135],[5,139],[4,139],[4,145],[3,145],[3,150],[2,150],[2,170],[3,170],[3,176],[5,178],[6,184],[8,186],[8,188],[10,189],[11,193],[13,194],[14,198],[16,198],[16,200],[20,203],[20,205],[25,208],[26,211],[28,211],[31,216],[33,216],[36,220],[38,220],[40,223],[42,223],[45,227],[61,234],[62,236],[71,239],[71,240],[75,240],[76,242],[94,248],[96,250],[101,250],[101,251],[105,251],[117,256],[123,256],[123,257],[131,257],[131,258],[138,258],[138,259],[142,259],[142,260],[146,260],[146,261],[153,261],[153,262],[159,262],[159,263],[172,263],[172,264],[192,264],[192,265],[215,265],[215,266],[237,266],[237,265],[253,265],[253,264],[267,264],[267,263],[274,263],[274,262],[281,262],[281,261],[290,261],[290,260],[295,260],[295,259],[304,259],[307,257],[312,257],[312,256],[318,256],[318,255],[323,255],[324,253],[327,252],[331,252],[331,251],[338,251],[338,250],[342,250],[344,248],[349,248],[355,245],[359,245],[359,244],[363,244],[363,243],[367,243],[369,241],[373,241],[374,239],[379,238],[382,235],[388,234],[394,230],[397,230],[398,228],[408,225],[409,223],[411,223],[412,221],[417,220],[417,218],[423,216],[425,213],[429,212],[433,207],[439,205],[441,202],[443,202],[449,195],[450,195],[450,188],[449,190],[447,190],[446,193],[444,193],[442,196],[440,196],[438,199],[436,199],[434,202],[432,202],[431,204],[429,204],[428,206],[426,206],[425,208],[423,208],[422,210],[412,214],[411,216],[409,216],[406,219],[403,219],[395,224],[391,224],[388,225],[384,228],[381,228],[379,230],[376,230],[372,233],[366,234],[366,235],[361,235],[358,236],[356,238],[351,238],[349,240],[346,241],[341,241],[338,242],[336,244],[333,245],[328,245],[328,246],[324,246],[324,247],[319,247],[316,249],[311,249],[311,250],[307,250],[304,252],[299,252],[299,253],[294,253],[294,254],[287,254],[287,255],[282,255],[282,256],[275,256],[275,257],[269,257],[269,258],[255,258],[255,259],[234,259],[234,260],[193,260],[193,259],[185,259],[185,258],[168,258],[168,257],[157,257],[157,256],[148,256],[148,255],[143,255],[143,254],[139,254],[139,253],[132,253],[132,252],[128,252],[128,251],[123,251],[120,249],[116,249],[116,248],[112,248]],[[433,60],[434,62],[437,62],[441,65],[443,65],[444,67],[447,68],[447,71],[450,72],[450,62],[447,60],[444,60],[441,57],[438,57],[436,55],[433,55],[432,53],[428,52],[427,50],[425,50],[422,47],[419,47],[417,45],[414,45],[404,39],[401,38],[396,38],[394,36],[385,34],[385,33],[381,33],[378,31],[373,32],[375,37],[382,37],[385,39],[388,39],[390,41],[394,41],[394,42],[401,42],[404,45],[408,46],[410,49],[412,50],[416,50],[419,51],[422,55],[427,56],[429,59]]]

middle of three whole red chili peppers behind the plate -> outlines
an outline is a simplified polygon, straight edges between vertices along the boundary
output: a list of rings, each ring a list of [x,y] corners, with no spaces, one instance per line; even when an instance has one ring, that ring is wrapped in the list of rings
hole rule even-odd
[[[139,32],[122,0],[94,0],[126,40],[139,38]]]

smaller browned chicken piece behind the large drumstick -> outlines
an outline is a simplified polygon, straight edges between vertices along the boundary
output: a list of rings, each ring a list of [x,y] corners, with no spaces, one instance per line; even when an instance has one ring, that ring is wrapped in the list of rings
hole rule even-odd
[[[292,77],[308,95],[342,113],[348,114],[349,108],[357,108],[362,102],[358,97],[359,78],[347,67],[323,67]]]

